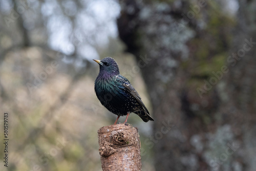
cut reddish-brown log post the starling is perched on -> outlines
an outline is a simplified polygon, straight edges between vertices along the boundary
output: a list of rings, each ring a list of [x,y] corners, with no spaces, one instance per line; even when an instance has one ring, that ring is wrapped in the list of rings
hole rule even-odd
[[[123,123],[103,126],[98,139],[103,171],[142,170],[137,127]]]

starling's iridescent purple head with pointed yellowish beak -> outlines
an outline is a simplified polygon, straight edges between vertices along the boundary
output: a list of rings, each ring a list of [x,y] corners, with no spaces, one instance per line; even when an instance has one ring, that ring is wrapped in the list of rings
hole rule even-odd
[[[105,57],[102,60],[93,60],[99,63],[99,73],[105,73],[111,76],[119,74],[119,68],[115,59],[111,57]]]

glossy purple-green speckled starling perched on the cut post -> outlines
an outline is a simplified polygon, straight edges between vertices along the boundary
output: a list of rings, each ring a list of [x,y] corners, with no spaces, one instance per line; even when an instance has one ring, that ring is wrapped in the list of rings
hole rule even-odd
[[[102,60],[93,60],[99,64],[99,74],[94,84],[95,93],[100,103],[117,115],[114,124],[120,116],[125,115],[124,123],[127,123],[130,113],[137,114],[144,122],[154,121],[131,82],[120,75],[115,59],[105,57]]]

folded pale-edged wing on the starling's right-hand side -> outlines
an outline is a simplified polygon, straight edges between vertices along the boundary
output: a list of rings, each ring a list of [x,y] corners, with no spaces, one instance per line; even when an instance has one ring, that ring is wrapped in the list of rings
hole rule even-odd
[[[149,114],[149,112],[146,109],[145,104],[142,102],[141,97],[139,95],[139,93],[134,89],[134,87],[132,86],[132,84],[130,83],[129,80],[127,80],[125,77],[122,76],[122,81],[120,81],[120,83],[122,84],[122,86],[125,88],[125,90],[127,92],[129,92],[144,108],[145,112],[147,114]]]

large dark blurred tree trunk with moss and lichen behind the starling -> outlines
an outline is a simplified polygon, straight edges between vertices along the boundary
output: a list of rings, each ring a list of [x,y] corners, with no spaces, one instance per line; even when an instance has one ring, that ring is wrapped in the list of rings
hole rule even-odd
[[[121,2],[119,36],[153,106],[154,134],[145,144],[154,147],[156,170],[253,168],[243,153],[255,122],[255,48],[235,66],[232,53],[256,41],[255,1],[241,1],[236,29],[217,2]]]

